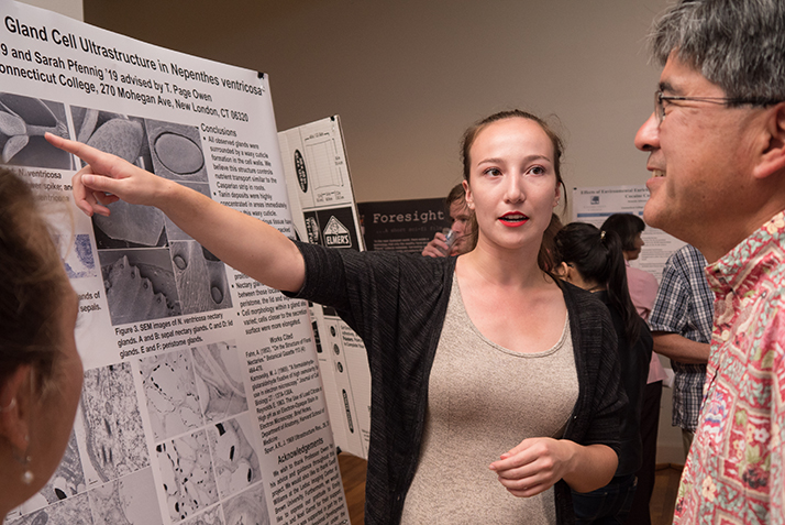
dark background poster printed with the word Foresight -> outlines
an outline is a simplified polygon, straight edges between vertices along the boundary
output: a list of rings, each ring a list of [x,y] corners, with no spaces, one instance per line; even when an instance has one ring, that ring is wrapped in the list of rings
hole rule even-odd
[[[452,220],[444,199],[357,203],[368,250],[422,253],[436,232]]]

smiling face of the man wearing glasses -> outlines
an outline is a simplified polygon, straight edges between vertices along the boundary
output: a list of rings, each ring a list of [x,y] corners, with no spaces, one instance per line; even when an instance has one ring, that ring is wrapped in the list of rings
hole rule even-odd
[[[665,96],[726,97],[674,54],[660,76],[660,90]],[[738,228],[732,221],[751,204],[744,199],[755,111],[700,101],[663,103],[662,123],[652,113],[635,135],[635,146],[650,152],[646,168],[653,174],[646,182],[651,195],[643,218],[698,248],[711,248],[723,230],[727,234],[728,228]]]

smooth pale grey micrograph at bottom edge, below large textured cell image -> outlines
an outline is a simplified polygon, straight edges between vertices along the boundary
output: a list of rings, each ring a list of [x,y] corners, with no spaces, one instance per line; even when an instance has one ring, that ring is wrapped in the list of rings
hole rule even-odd
[[[162,525],[152,469],[104,483],[88,492],[93,525]]]

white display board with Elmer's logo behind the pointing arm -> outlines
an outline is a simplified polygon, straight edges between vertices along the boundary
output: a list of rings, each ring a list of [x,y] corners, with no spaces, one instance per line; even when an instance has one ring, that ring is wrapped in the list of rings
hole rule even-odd
[[[338,116],[278,133],[297,237],[364,250]],[[365,344],[333,308],[311,305],[317,353],[335,444],[368,457],[371,372]]]

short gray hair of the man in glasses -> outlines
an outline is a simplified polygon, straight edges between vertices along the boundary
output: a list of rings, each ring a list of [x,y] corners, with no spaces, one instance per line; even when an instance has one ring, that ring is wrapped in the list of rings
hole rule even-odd
[[[679,0],[654,24],[652,56],[672,51],[729,98],[785,100],[784,0]]]

